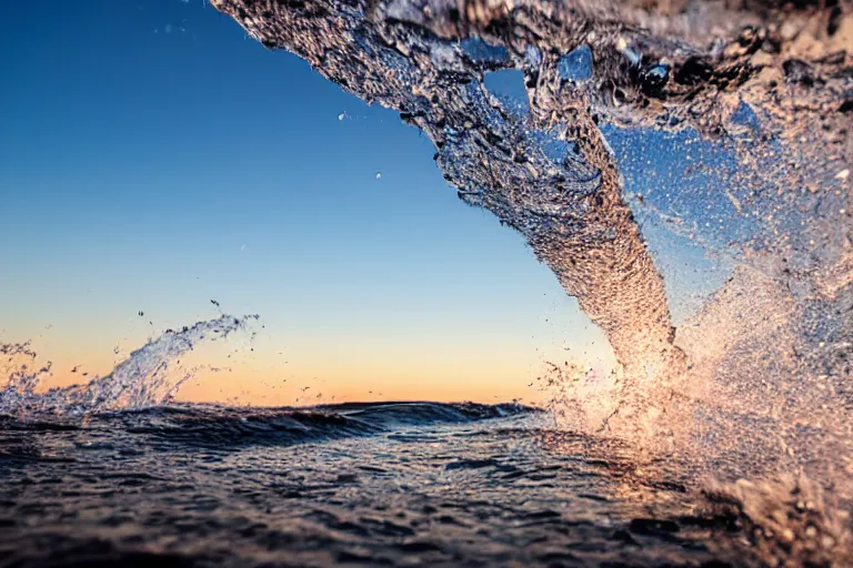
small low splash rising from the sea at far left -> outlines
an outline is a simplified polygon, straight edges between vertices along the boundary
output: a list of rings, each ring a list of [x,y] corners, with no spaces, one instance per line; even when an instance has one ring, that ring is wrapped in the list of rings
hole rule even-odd
[[[225,338],[255,320],[257,315],[222,315],[180,331],[168,329],[133,351],[108,375],[96,377],[84,385],[53,388],[46,393],[37,392],[37,387],[50,376],[51,364],[31,367],[37,354],[29,344],[2,344],[0,355],[6,361],[0,371],[9,381],[0,390],[0,414],[80,416],[168,404],[181,385],[199,371],[181,367],[182,355],[200,342]]]

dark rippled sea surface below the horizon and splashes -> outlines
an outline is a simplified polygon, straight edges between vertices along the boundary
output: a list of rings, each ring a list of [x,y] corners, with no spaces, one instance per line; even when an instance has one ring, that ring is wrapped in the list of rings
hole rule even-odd
[[[512,404],[4,417],[0,476],[3,567],[764,566],[678,462]]]

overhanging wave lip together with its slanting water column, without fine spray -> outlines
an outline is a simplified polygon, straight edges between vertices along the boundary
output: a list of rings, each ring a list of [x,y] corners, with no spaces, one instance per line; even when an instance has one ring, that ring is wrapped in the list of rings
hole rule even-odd
[[[774,254],[791,246],[773,235],[793,219],[774,221],[773,212],[792,204],[765,194],[782,182],[820,187],[826,172],[837,170],[830,164],[847,158],[841,110],[850,87],[843,38],[851,17],[843,10],[790,14],[752,4],[739,11],[704,2],[584,1],[213,4],[264,45],[299,54],[426,133],[460,199],[526,237],[608,334],[628,376],[646,378],[645,388],[669,383],[688,362],[674,344],[663,280],[600,126],[725,138],[737,165],[730,201],[766,225],[760,239],[740,246],[761,244]],[[815,28],[826,18],[832,26]],[[823,42],[812,43],[823,51],[803,53],[815,33]],[[523,81],[521,110],[488,89],[490,73],[508,70]],[[761,112],[753,121],[760,132],[744,119],[753,108]],[[814,151],[821,136],[832,139],[830,151]],[[784,166],[765,170],[780,156]],[[827,199],[831,184],[819,193]],[[836,245],[840,239],[839,231],[829,235]],[[823,276],[835,287],[847,278],[849,262],[836,248],[830,255],[842,268]],[[654,373],[646,373],[650,366]],[[649,384],[648,375],[656,379]]]

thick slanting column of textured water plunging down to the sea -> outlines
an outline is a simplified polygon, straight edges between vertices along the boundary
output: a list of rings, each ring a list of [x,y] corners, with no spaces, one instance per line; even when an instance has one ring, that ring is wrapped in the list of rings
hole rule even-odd
[[[578,91],[561,79],[559,58],[534,43],[430,33],[426,22],[413,21],[421,7],[405,3],[214,6],[265,45],[298,53],[426,133],[460,200],[521,232],[626,366],[681,358],[663,282],[622,200],[615,161],[585,95],[554,91],[561,84]],[[432,21],[441,18],[436,12]],[[484,83],[486,72],[509,69],[524,73],[530,112],[523,115]]]

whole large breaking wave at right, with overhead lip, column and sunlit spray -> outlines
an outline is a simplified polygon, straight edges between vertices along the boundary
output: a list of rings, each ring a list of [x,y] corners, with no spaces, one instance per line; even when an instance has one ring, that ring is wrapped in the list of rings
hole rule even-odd
[[[850,2],[212,3],[399,111],[460,200],[524,235],[621,363],[548,371],[568,419],[732,476],[847,470]],[[675,237],[730,272],[678,329]]]

